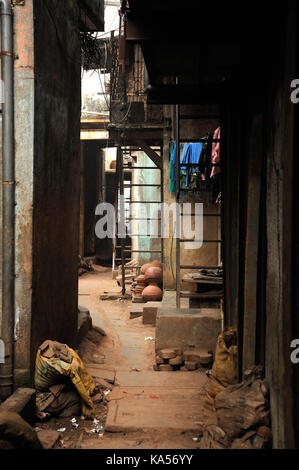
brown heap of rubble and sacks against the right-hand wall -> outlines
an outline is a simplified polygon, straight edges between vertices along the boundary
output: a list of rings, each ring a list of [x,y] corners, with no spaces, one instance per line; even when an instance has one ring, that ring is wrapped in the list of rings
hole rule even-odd
[[[200,449],[271,447],[269,386],[262,366],[244,372],[238,383],[236,328],[226,329],[218,337],[205,392]]]

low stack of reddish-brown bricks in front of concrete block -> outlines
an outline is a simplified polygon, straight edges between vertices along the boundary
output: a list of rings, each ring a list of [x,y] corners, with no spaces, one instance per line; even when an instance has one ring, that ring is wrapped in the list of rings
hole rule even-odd
[[[211,367],[213,363],[213,353],[205,350],[188,349],[161,349],[156,354],[156,364],[153,366],[156,371],[175,370],[197,370],[199,368]]]

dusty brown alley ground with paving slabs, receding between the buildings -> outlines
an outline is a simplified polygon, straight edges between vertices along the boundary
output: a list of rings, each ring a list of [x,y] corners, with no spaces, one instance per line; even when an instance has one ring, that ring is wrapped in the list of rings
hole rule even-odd
[[[102,271],[102,272],[101,272]],[[58,448],[81,449],[196,449],[202,424],[201,406],[204,372],[155,372],[155,328],[130,319],[130,301],[100,300],[105,292],[119,293],[111,270],[100,268],[79,278],[79,305],[90,310],[93,325],[106,333],[92,331],[81,343],[84,364],[94,363],[115,370],[115,385],[107,396],[107,407],[96,405],[97,417],[106,428],[104,435],[86,432],[91,421],[77,418],[53,419],[47,429],[67,427]],[[89,371],[92,373],[94,369]],[[138,369],[138,371],[134,370]],[[92,373],[93,375],[93,373]],[[44,425],[42,426],[44,427]]]

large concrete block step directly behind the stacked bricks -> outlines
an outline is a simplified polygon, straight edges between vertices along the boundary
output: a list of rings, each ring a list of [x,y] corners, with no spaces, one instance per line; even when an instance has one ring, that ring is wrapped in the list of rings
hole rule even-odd
[[[219,309],[159,308],[156,320],[156,351],[193,349],[215,353],[221,332]]]

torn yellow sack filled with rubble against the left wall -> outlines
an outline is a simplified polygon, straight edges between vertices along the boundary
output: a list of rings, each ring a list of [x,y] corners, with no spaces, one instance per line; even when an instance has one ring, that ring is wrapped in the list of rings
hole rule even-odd
[[[44,341],[39,347],[35,362],[34,383],[37,392],[44,392],[52,385],[62,383],[68,377],[75,386],[82,401],[82,414],[95,414],[91,395],[95,383],[84,367],[78,354],[66,344]]]

